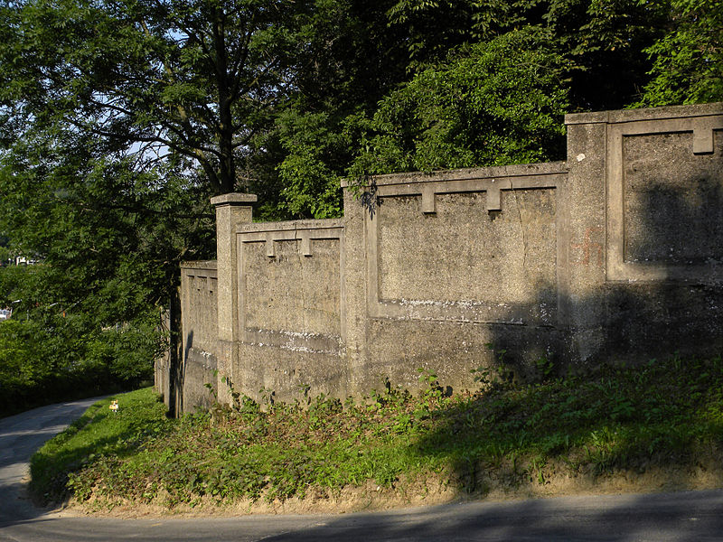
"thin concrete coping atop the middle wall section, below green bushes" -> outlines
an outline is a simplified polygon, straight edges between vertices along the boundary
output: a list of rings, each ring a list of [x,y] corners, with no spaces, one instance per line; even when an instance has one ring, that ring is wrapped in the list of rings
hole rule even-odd
[[[444,170],[438,172],[390,173],[373,175],[378,186],[390,184],[408,184],[410,182],[445,182],[467,181],[473,179],[503,179],[504,177],[524,177],[539,175],[557,175],[568,173],[566,162],[542,162],[540,164],[495,165],[469,169]],[[342,188],[352,185],[347,179],[342,181]]]

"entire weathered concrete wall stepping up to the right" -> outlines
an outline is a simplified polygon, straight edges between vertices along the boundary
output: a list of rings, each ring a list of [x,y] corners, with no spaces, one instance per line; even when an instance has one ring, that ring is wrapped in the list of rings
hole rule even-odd
[[[216,199],[224,301],[214,334],[183,289],[186,381],[207,375],[197,350],[221,352],[237,390],[283,399],[415,388],[418,368],[471,388],[501,356],[524,376],[543,356],[718,353],[723,104],[566,124],[565,162],[380,176],[373,215],[348,190],[343,220],[252,224],[252,196]]]

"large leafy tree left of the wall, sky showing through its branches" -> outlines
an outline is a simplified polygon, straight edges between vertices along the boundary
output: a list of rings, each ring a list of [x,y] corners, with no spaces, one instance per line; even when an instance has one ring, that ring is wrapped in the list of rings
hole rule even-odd
[[[209,196],[264,154],[309,4],[0,5],[0,233],[43,260],[2,295],[61,341],[54,367],[147,374],[180,261],[212,255]]]

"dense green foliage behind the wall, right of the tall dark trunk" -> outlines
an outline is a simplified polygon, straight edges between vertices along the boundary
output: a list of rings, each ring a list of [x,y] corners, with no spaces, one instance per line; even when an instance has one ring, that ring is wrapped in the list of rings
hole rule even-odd
[[[349,25],[333,18],[315,35],[335,44],[344,28],[352,36],[344,43],[354,42],[355,3],[320,4],[337,16],[347,9]],[[368,3],[367,42],[380,45],[367,55],[371,77],[358,70],[359,45],[316,52],[312,73],[322,84],[300,84],[277,121],[286,154],[276,210],[329,216],[343,176],[363,183],[370,173],[561,159],[565,112],[723,99],[718,4]],[[389,34],[396,40],[380,39]],[[330,77],[330,66],[343,79]]]

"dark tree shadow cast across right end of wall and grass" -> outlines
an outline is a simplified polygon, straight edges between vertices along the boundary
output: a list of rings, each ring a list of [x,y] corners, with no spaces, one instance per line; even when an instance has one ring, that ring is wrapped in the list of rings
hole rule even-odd
[[[707,399],[715,401],[711,412],[718,412],[715,397],[723,394],[723,257],[719,254],[723,253],[723,185],[704,175],[692,179],[684,191],[670,183],[651,182],[629,207],[634,208],[630,212],[636,223],[625,241],[626,261],[658,270],[677,269],[676,273],[654,280],[608,281],[587,297],[559,298],[559,309],[564,309],[559,311],[559,325],[538,333],[545,349],[534,344],[534,335],[521,340],[512,326],[489,326],[493,350],[504,352],[495,360],[502,369],[502,383],[491,393],[437,412],[437,430],[410,450],[453,456],[464,450],[467,455],[455,463],[453,474],[462,492],[484,495],[490,487],[506,484],[534,486],[536,476],[544,484],[544,468],[519,470],[514,465],[518,450],[534,450],[532,459],[540,464],[564,463],[569,448],[559,439],[566,433],[578,439],[577,455],[586,453],[585,442],[599,450],[599,442],[592,444],[595,439],[603,439],[603,447],[609,447],[607,458],[596,457],[580,471],[593,485],[600,468],[602,473],[619,473],[623,467],[634,479],[657,465],[663,467],[660,487],[692,488],[701,469],[723,455],[723,440],[711,437],[723,435],[723,416],[705,414],[710,406]],[[686,266],[690,273],[681,273]],[[550,294],[540,291],[537,302],[512,307],[510,319],[533,313]],[[537,362],[543,358],[547,362]],[[632,370],[624,373],[623,368]],[[665,371],[679,375],[679,382],[666,379]],[[621,377],[623,373],[627,376]],[[565,393],[536,395],[536,382],[556,378],[556,386]],[[656,388],[661,382],[663,388]],[[688,396],[681,397],[676,384]],[[575,389],[566,389],[569,386]],[[495,406],[503,396],[508,401],[506,411]],[[534,411],[529,417],[520,415],[517,406],[525,402],[568,418],[556,418],[562,420],[561,426],[535,427]],[[681,422],[690,413],[676,411],[678,403],[681,408],[695,407],[697,419]],[[645,413],[644,419],[638,413]],[[687,431],[686,423],[705,425],[706,439],[713,442],[701,443]],[[495,431],[494,425],[508,434]],[[649,427],[648,440],[626,441],[626,425]],[[467,442],[461,446],[463,439]],[[577,459],[587,464],[584,457]],[[708,464],[700,463],[706,459]],[[666,466],[671,470],[665,472]],[[493,478],[487,472],[495,472]],[[709,472],[708,482],[723,487],[723,469]],[[630,485],[634,487],[634,482]]]

